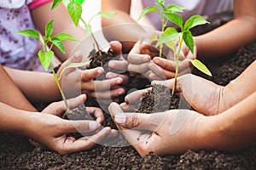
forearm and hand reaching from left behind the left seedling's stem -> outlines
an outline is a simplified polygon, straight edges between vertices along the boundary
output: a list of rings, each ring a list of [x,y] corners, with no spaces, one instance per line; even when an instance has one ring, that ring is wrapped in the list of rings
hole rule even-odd
[[[119,42],[111,42],[110,44],[113,50],[120,51],[119,48],[121,46]],[[57,76],[60,77],[61,71],[67,65],[70,63],[79,63],[82,59],[83,56],[79,51],[73,54],[71,58],[67,59],[61,65],[61,68],[56,73]],[[20,71],[8,67],[4,67],[4,69],[31,102],[52,102],[61,99],[61,94],[52,74],[36,71]],[[87,94],[90,99],[96,99],[97,91],[101,92],[101,95],[97,97],[103,101],[106,100],[108,102],[109,96],[111,96],[113,101],[118,102],[119,95],[125,93],[125,89],[121,87],[121,84],[127,81],[127,77],[125,75],[115,75],[115,77],[108,77],[108,80],[105,81],[94,81],[103,71],[102,67],[90,70],[67,69],[60,80],[61,88],[63,88],[67,98],[75,97],[79,94]],[[35,86],[37,88],[34,88]]]

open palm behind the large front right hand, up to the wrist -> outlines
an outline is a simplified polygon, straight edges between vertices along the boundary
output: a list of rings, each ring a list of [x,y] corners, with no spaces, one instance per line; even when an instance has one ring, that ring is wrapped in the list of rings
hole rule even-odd
[[[174,79],[153,81],[152,84],[162,84],[172,89]],[[177,78],[176,93],[182,94],[195,111],[212,116],[227,110],[227,102],[223,96],[223,86],[208,81],[202,77],[186,74]]]

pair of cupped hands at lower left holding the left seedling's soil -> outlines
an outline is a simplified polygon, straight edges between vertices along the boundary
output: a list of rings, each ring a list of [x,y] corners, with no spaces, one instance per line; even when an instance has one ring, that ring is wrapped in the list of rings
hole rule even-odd
[[[85,95],[80,95],[75,99],[69,99],[68,103],[71,107],[74,107],[83,104],[85,99]],[[31,122],[26,123],[25,135],[61,155],[79,150],[89,150],[104,137],[114,132],[110,127],[104,127],[92,136],[85,136],[79,139],[67,137],[67,133],[87,133],[101,127],[101,123],[104,120],[102,111],[93,108],[88,111],[96,116],[96,122],[86,120],[67,121],[59,117],[65,112],[63,102],[53,103],[43,111],[44,113],[30,114]],[[45,114],[45,112],[49,114]]]

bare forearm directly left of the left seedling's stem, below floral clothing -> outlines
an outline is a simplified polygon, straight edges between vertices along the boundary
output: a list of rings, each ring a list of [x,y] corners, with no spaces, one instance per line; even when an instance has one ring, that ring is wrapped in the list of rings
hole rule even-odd
[[[20,71],[8,67],[5,67],[5,70],[31,102],[52,102],[61,99],[61,94],[52,74]]]

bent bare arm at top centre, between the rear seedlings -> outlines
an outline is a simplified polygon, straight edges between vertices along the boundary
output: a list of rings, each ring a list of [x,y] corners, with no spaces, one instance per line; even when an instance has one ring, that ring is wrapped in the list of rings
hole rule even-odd
[[[125,52],[129,52],[134,43],[145,33],[143,28],[130,16],[131,0],[102,0],[102,11],[117,12],[112,19],[102,17],[104,36],[108,41],[122,42]],[[124,42],[130,41],[130,42]]]

